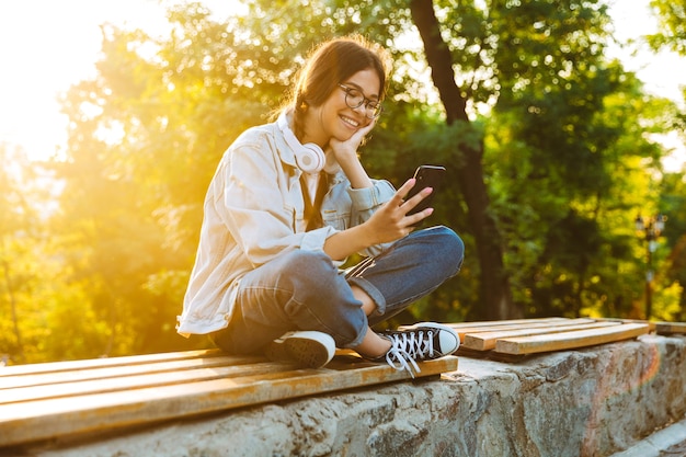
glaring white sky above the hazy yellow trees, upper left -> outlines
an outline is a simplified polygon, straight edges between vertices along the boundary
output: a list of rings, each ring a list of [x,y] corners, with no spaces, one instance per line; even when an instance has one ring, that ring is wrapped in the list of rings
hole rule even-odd
[[[57,96],[95,73],[99,25],[162,34],[169,4],[180,0],[0,0],[0,142],[31,158],[55,155],[67,140]],[[204,0],[218,18],[235,0]],[[61,146],[64,147],[64,146]]]

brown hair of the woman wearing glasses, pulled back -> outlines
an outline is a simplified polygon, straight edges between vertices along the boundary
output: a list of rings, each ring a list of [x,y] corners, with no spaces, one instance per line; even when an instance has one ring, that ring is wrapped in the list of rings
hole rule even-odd
[[[300,70],[298,83],[288,103],[295,107],[296,136],[299,138],[302,135],[302,118],[307,107],[320,106],[338,89],[339,83],[358,71],[376,71],[381,83],[379,100],[384,100],[389,68],[388,53],[361,35],[334,38],[316,47]]]

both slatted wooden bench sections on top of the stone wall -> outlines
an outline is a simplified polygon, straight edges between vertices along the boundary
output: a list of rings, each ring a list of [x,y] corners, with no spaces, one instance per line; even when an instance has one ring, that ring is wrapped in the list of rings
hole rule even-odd
[[[457,356],[521,359],[542,352],[686,333],[686,323],[618,319],[523,319],[448,323]],[[416,377],[455,372],[457,356],[420,364]],[[320,369],[217,350],[0,368],[0,448],[175,420],[350,388],[409,380],[408,372],[338,351]]]

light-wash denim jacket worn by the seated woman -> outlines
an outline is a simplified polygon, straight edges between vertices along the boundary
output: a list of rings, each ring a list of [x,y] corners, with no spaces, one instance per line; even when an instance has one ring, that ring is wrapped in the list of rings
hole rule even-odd
[[[180,334],[226,328],[242,275],[295,249],[322,250],[327,238],[364,222],[395,193],[380,180],[369,188],[352,188],[339,168],[321,205],[324,226],[305,232],[298,230],[305,213],[300,174],[276,123],[245,130],[225,152],[205,197],[195,265],[178,318]]]

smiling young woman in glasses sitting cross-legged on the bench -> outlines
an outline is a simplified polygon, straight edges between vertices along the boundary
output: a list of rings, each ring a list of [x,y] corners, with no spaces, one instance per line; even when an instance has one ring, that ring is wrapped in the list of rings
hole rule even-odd
[[[454,353],[446,325],[370,329],[456,275],[464,244],[446,227],[414,230],[432,208],[373,180],[357,148],[381,113],[386,53],[361,37],[320,45],[274,123],[244,132],[205,198],[178,331],[233,354],[321,367],[335,347],[398,369]],[[344,272],[353,253],[367,258]]]

